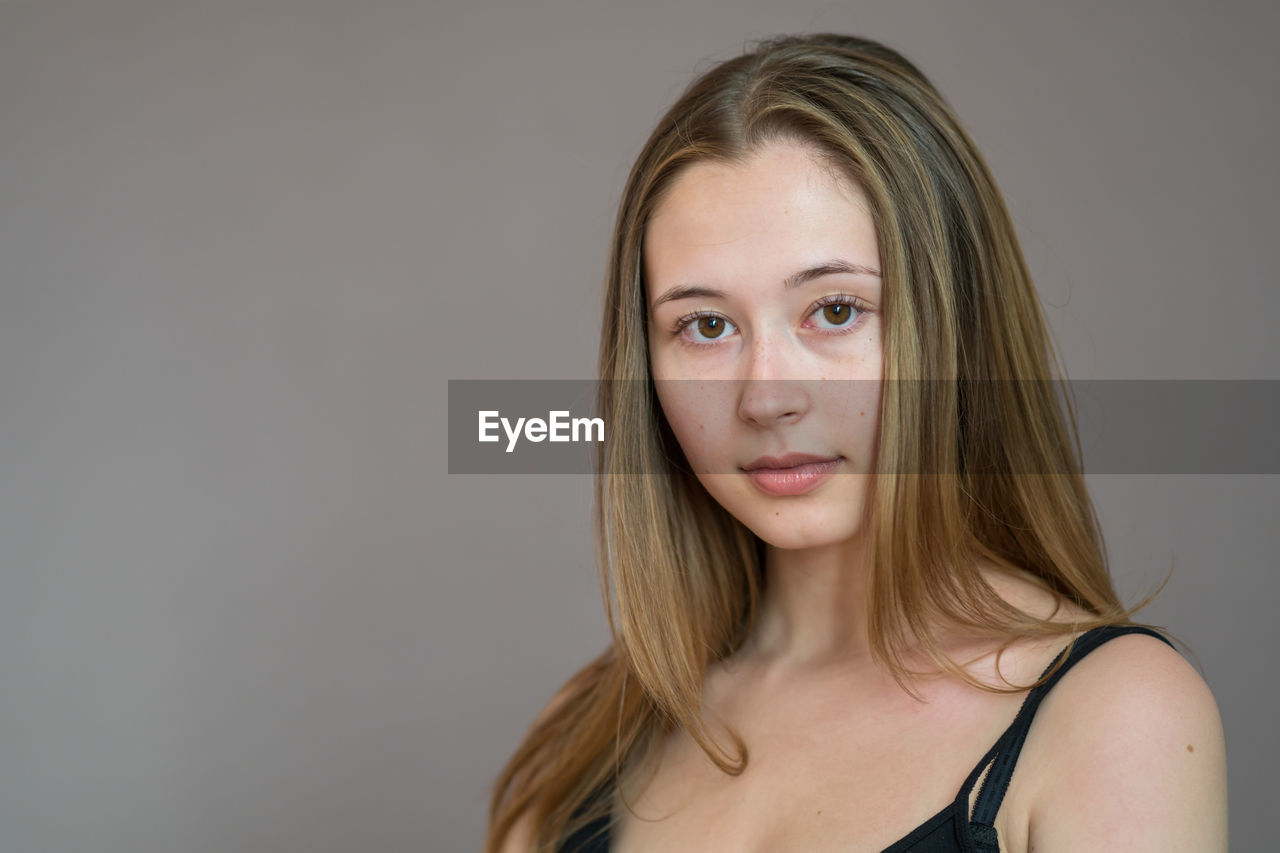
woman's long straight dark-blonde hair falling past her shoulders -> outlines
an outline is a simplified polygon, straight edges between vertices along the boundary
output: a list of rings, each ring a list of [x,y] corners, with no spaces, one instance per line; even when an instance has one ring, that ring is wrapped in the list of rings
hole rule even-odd
[[[700,715],[712,661],[750,635],[763,543],[687,471],[649,373],[645,223],[682,169],[740,163],[800,141],[855,181],[881,248],[883,410],[872,497],[870,651],[911,692],[919,648],[995,693],[941,648],[934,626],[1014,642],[1132,624],[1119,601],[1079,464],[1070,400],[1004,200],[929,81],[895,50],[852,36],[776,37],[698,78],[631,169],[609,255],[598,414],[595,547],[612,643],[559,690],[498,776],[486,850],[531,815],[556,850],[607,815],[621,770],[684,727],[727,774],[748,763]],[[1023,570],[1092,615],[1050,621],[1007,603],[978,560]],[[1167,578],[1166,578],[1167,583]],[[1055,611],[1056,613],[1056,611]],[[1007,647],[1007,643],[1006,643]],[[1004,648],[1004,647],[1002,647]],[[914,693],[913,693],[914,695]]]

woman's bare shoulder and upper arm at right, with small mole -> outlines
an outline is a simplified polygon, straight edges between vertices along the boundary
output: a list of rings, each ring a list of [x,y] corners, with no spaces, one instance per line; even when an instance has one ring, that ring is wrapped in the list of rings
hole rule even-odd
[[[1226,850],[1222,721],[1176,649],[1111,638],[1046,694],[1037,729],[1028,849]]]

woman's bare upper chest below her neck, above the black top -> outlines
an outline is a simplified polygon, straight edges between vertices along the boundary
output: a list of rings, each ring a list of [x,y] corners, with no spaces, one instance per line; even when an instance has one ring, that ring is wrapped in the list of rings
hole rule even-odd
[[[686,731],[671,733],[649,765],[627,774],[630,809],[614,806],[611,853],[881,853],[955,800],[1025,695],[955,683],[920,690],[927,702],[870,679],[737,685],[709,679],[710,730],[730,754],[723,724],[742,736],[746,770],[726,774]],[[1019,760],[997,812],[1004,850],[1025,848],[1036,767],[1046,763],[1047,747],[1029,739]]]

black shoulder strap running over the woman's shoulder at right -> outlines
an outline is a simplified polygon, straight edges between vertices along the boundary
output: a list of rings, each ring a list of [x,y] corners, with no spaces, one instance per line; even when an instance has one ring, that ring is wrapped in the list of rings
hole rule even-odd
[[[975,770],[975,774],[970,776],[970,781],[965,785],[965,790],[963,792],[965,807],[968,807],[968,790],[973,784],[973,779],[977,779],[977,774],[982,772],[982,767],[986,766],[991,754],[995,753],[996,761],[992,763],[991,772],[987,774],[987,777],[982,783],[982,788],[978,790],[978,802],[974,804],[973,818],[969,826],[975,840],[984,840],[988,836],[992,839],[995,838],[993,826],[996,822],[996,812],[1000,811],[1000,803],[1005,799],[1005,792],[1009,789],[1009,780],[1014,775],[1014,765],[1018,762],[1018,753],[1023,749],[1023,743],[1027,740],[1027,733],[1032,727],[1032,720],[1036,716],[1036,710],[1044,699],[1044,695],[1053,688],[1055,684],[1057,684],[1057,680],[1066,675],[1068,670],[1075,666],[1075,663],[1085,654],[1096,649],[1102,643],[1106,643],[1108,639],[1120,637],[1121,634],[1134,633],[1149,634],[1151,637],[1166,643],[1170,648],[1174,648],[1174,644],[1166,638],[1161,637],[1149,628],[1143,628],[1142,625],[1102,625],[1080,634],[1075,639],[1075,644],[1071,647],[1071,653],[1068,656],[1066,662],[1057,672],[1053,674],[1053,678],[1027,694],[1027,698],[1023,699],[1023,706],[1019,708],[1012,725],[1005,730],[1005,734],[1001,735],[996,745],[987,753],[987,757],[983,758],[982,763]],[[1053,665],[1061,660],[1065,651],[1066,649],[1060,652],[1057,657],[1053,658],[1053,662],[1050,663],[1043,672],[1041,672],[1041,678],[1044,678],[1044,675],[1053,669]],[[978,849],[982,849],[982,847]]]

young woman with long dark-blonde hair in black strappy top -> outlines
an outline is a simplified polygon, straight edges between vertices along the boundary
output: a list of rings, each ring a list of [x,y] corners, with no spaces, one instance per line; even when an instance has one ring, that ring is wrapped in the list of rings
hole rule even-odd
[[[814,35],[698,79],[612,245],[613,642],[486,849],[1225,850],[1217,707],[1116,596],[1056,370],[911,63]]]

